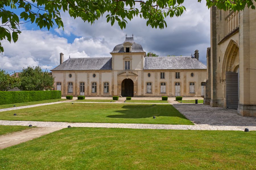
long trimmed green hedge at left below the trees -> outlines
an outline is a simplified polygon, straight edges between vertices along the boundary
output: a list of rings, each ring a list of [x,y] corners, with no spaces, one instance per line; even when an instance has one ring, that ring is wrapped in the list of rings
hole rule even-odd
[[[61,99],[61,91],[47,90],[0,92],[0,105],[49,99]]]

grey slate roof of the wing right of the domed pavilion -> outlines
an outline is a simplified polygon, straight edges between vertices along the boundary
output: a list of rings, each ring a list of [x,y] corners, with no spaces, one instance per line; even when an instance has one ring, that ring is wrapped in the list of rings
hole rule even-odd
[[[145,57],[144,70],[207,69],[206,65],[191,56]]]

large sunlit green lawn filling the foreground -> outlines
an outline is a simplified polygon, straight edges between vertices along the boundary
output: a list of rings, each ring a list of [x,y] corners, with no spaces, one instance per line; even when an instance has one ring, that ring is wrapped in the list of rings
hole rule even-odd
[[[0,150],[0,167],[256,169],[255,139],[255,131],[65,128]]]

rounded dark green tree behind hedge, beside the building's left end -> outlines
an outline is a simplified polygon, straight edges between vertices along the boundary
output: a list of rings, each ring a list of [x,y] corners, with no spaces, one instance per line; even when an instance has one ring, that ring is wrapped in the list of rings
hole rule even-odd
[[[51,90],[54,84],[53,76],[48,71],[42,71],[39,66],[23,68],[19,78],[20,90]]]

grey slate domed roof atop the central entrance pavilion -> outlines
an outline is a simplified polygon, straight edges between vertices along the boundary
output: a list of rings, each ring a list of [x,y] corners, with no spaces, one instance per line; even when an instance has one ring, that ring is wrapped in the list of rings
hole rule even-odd
[[[141,44],[134,42],[133,37],[125,37],[123,44],[125,42],[130,42],[132,44],[131,52],[144,52]],[[124,52],[123,44],[116,45],[111,53]]]

